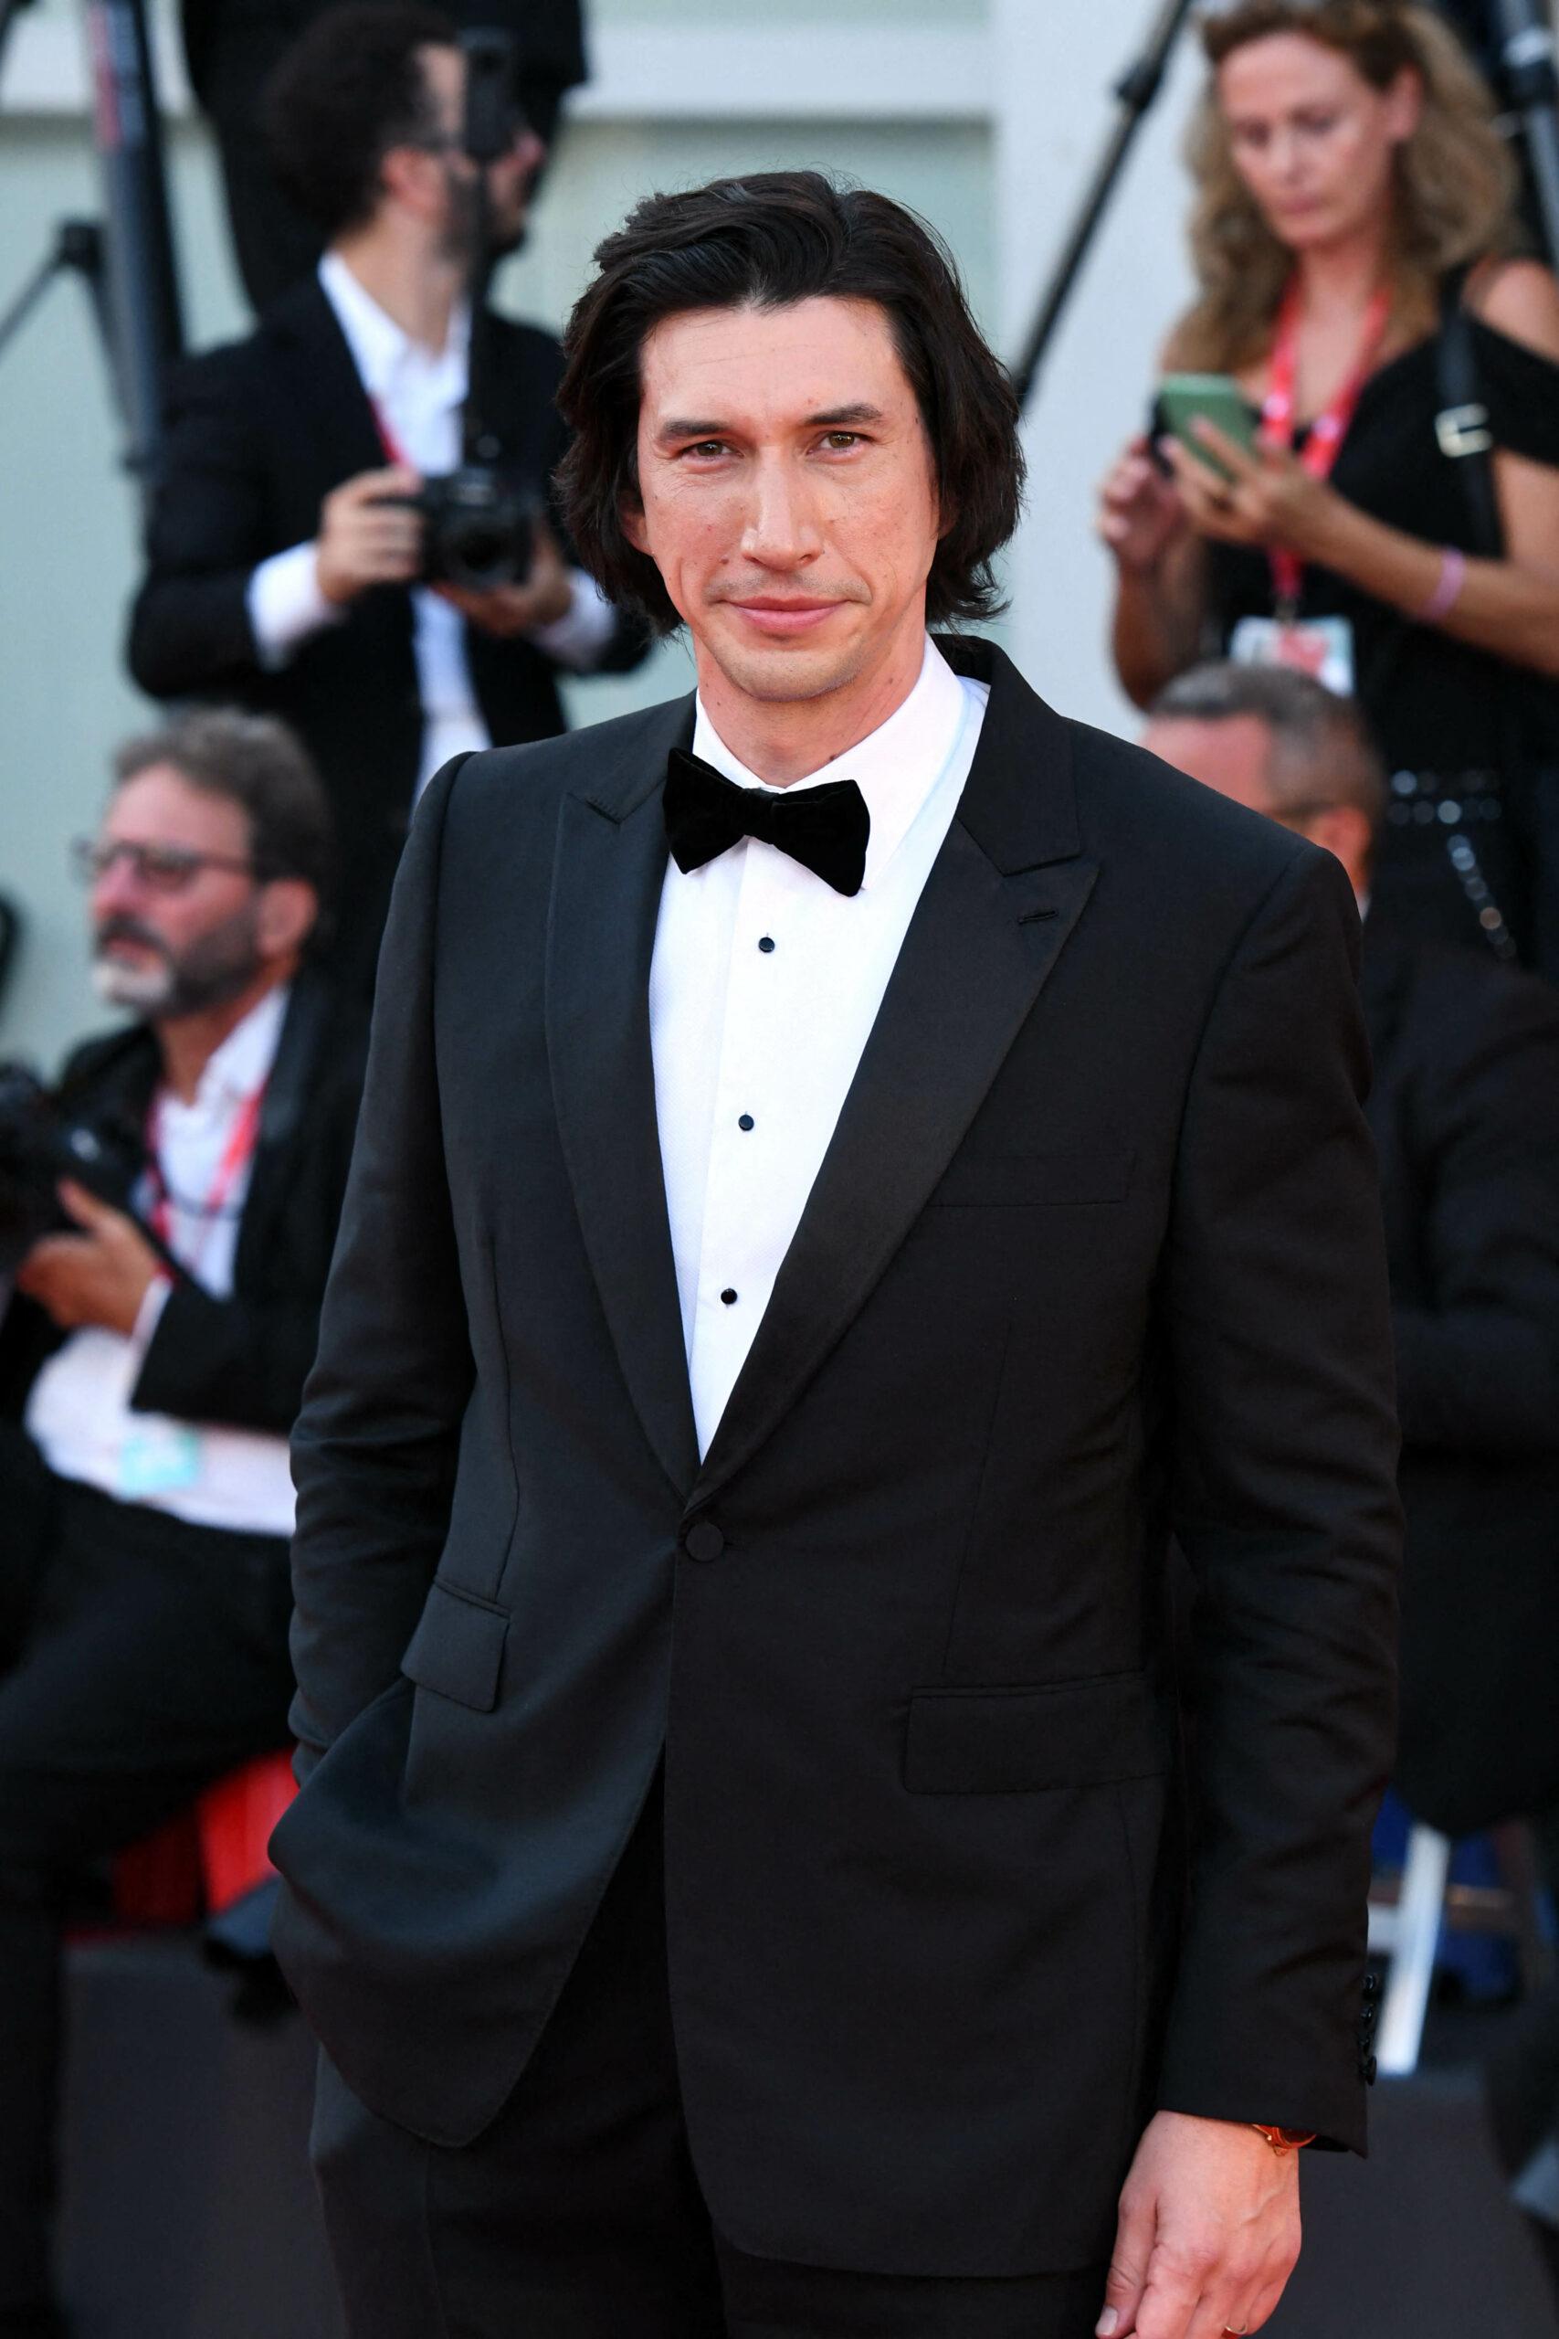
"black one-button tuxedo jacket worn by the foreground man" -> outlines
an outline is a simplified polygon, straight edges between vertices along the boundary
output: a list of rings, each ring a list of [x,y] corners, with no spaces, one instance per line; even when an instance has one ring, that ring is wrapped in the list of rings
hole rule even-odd
[[[428,793],[295,1443],[278,1951],[472,2138],[664,1757],[718,2229],[1003,2276],[1108,2255],[1155,2103],[1363,2143],[1400,1523],[1337,863],[951,655],[975,767],[704,1462],[647,1022],[692,702]]]

